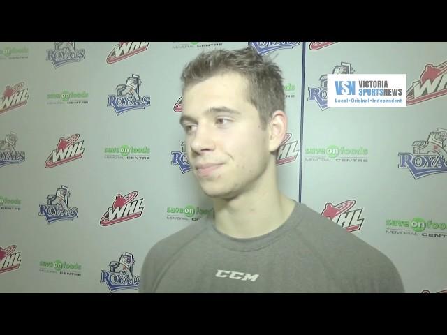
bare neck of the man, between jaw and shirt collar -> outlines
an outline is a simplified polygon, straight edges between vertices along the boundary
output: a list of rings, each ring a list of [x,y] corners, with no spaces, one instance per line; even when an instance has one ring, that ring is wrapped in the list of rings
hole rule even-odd
[[[219,232],[230,237],[258,237],[282,225],[294,207],[293,200],[280,193],[277,187],[265,188],[231,200],[214,200],[214,222]]]

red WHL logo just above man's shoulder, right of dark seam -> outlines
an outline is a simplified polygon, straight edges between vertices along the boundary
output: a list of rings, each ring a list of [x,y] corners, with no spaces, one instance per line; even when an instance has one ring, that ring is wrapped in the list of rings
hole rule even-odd
[[[321,215],[334,221],[337,225],[346,229],[346,231],[355,232],[362,228],[363,221],[365,220],[365,218],[361,217],[363,208],[350,210],[355,204],[356,200],[346,200],[336,205],[328,202],[325,204]]]

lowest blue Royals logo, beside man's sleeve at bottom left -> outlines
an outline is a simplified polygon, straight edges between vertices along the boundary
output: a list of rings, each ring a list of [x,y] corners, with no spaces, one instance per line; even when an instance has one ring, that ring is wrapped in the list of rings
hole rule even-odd
[[[118,261],[109,263],[109,270],[101,270],[100,283],[107,285],[110,293],[119,290],[138,290],[140,276],[133,275],[135,259],[131,253],[124,253]]]

